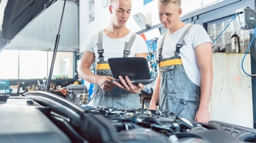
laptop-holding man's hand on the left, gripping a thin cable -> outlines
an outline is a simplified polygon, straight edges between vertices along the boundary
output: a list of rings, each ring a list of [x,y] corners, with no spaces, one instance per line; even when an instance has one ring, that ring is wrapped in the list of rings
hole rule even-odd
[[[115,80],[111,76],[99,76],[97,79],[97,84],[100,85],[101,89],[103,89],[106,92],[109,92],[112,90],[112,87],[115,85],[113,84],[112,80]]]

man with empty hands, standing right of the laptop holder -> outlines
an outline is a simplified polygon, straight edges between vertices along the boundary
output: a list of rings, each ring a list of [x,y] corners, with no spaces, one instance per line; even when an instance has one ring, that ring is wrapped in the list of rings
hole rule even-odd
[[[159,76],[150,109],[169,111],[196,122],[209,122],[213,82],[212,41],[199,24],[185,24],[181,0],[159,0],[159,20],[167,32],[157,42]]]

